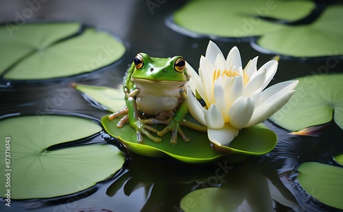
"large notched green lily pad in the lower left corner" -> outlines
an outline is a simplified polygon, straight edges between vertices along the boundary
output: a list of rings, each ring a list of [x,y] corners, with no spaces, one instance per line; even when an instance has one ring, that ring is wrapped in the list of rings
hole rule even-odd
[[[0,129],[0,194],[4,198],[7,189],[11,199],[73,194],[113,176],[124,162],[122,153],[110,144],[48,150],[102,131],[86,118],[16,116],[0,120]],[[5,187],[9,181],[3,176],[8,173],[10,187]]]

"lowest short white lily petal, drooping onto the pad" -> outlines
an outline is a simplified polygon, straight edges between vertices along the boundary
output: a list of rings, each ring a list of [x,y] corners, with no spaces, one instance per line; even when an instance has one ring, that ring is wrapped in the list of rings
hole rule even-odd
[[[217,145],[224,146],[230,144],[238,135],[239,130],[225,124],[222,129],[207,129],[209,140]]]

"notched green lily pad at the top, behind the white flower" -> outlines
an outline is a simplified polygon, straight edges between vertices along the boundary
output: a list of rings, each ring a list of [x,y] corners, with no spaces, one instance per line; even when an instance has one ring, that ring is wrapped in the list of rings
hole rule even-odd
[[[193,0],[174,12],[172,18],[176,25],[191,33],[240,38],[261,36],[285,27],[258,17],[298,21],[314,7],[312,1]]]

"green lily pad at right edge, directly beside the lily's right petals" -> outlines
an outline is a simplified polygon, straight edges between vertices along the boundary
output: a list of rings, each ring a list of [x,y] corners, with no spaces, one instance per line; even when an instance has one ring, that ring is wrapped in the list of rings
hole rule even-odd
[[[289,102],[270,119],[289,131],[330,122],[343,129],[343,75],[300,77]]]

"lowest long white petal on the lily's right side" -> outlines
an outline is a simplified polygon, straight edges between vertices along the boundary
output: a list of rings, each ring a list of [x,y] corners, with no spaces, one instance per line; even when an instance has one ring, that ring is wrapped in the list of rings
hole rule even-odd
[[[273,95],[266,101],[263,101],[255,108],[255,111],[248,124],[246,124],[246,127],[251,127],[267,120],[270,116],[275,114],[276,111],[281,109],[287,101],[289,101],[289,98],[292,97],[294,92],[295,90],[279,92],[278,95]]]

